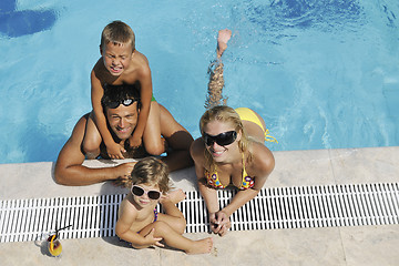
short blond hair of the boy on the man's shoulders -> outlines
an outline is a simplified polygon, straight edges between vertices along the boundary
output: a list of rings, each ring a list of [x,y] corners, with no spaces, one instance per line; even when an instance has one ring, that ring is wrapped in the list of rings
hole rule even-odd
[[[115,20],[105,25],[101,33],[100,47],[104,49],[104,47],[110,42],[112,42],[114,45],[130,43],[132,45],[132,52],[135,49],[135,37],[133,30],[126,23],[120,20]]]

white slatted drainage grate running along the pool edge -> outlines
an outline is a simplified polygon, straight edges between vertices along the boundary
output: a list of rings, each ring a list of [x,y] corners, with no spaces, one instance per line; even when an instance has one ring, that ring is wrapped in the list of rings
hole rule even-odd
[[[221,207],[235,191],[218,191]],[[177,206],[187,233],[207,232],[207,212],[198,192],[186,192]],[[124,195],[0,201],[0,243],[35,241],[63,227],[61,238],[114,236]],[[235,212],[232,231],[359,226],[399,223],[399,186],[390,184],[264,188]]]

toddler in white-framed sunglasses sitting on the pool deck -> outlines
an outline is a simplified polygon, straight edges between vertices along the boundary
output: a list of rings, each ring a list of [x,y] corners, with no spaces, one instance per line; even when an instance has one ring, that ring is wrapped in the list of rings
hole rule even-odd
[[[146,157],[134,165],[132,188],[122,201],[116,222],[116,235],[132,243],[135,248],[166,245],[187,254],[211,253],[212,237],[191,241],[183,236],[186,222],[175,204],[185,198],[182,190],[170,191],[167,166],[154,157]],[[156,212],[161,203],[165,214]]]

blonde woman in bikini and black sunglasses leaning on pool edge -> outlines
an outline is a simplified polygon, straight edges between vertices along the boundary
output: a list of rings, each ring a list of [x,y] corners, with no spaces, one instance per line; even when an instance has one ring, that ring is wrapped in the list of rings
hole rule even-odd
[[[221,236],[231,227],[229,216],[258,194],[275,165],[274,156],[264,142],[276,140],[268,135],[264,120],[247,108],[234,110],[219,105],[226,104],[222,96],[222,54],[231,37],[231,30],[218,32],[217,60],[208,71],[211,79],[205,102],[208,110],[200,121],[202,137],[191,146],[211,228]],[[229,185],[239,191],[227,206],[219,209],[216,190]]]

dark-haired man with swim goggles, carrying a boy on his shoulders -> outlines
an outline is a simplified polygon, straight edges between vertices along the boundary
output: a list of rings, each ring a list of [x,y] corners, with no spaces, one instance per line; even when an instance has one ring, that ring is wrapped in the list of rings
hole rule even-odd
[[[108,129],[114,141],[124,147],[124,157],[137,158],[146,156],[142,146],[133,149],[129,137],[133,134],[140,113],[140,98],[134,85],[108,85],[102,99]],[[160,104],[161,134],[165,140],[166,156],[162,160],[170,172],[193,165],[190,155],[192,135],[178,124],[172,114]],[[83,115],[73,129],[71,137],[62,147],[55,163],[55,182],[63,185],[90,185],[104,181],[124,182],[129,178],[135,162],[123,163],[113,167],[90,168],[82,163],[85,154],[82,149],[90,114]],[[108,158],[103,143],[98,149],[103,158]],[[91,154],[92,155],[92,154]]]

